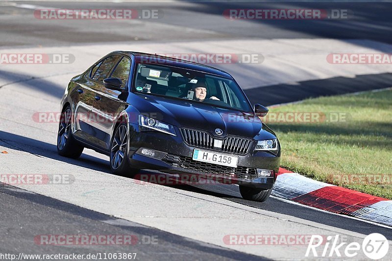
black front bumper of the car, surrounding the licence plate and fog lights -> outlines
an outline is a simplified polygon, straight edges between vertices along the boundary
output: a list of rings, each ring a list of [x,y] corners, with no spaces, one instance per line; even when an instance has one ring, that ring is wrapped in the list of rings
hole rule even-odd
[[[159,132],[139,132],[138,126],[130,124],[128,157],[131,166],[140,169],[154,169],[171,174],[196,174],[219,180],[230,180],[232,183],[260,189],[271,189],[279,169],[280,152],[273,155],[267,151],[254,151],[245,155],[232,154],[239,157],[237,168],[220,166],[194,161],[193,147],[183,142],[180,135],[172,136]],[[143,155],[142,149],[154,150],[154,155]],[[221,154],[230,154],[215,151]],[[256,168],[270,169],[274,175],[258,177]]]

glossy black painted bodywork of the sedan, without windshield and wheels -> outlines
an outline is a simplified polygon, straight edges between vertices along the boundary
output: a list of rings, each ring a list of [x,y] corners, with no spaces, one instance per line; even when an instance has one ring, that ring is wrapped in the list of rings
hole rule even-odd
[[[129,78],[121,91],[108,89],[102,81],[92,78],[92,72],[94,74],[96,68],[99,70],[100,63],[113,55],[118,55],[119,58],[116,58],[117,65],[110,70],[111,74],[122,59],[130,61]],[[154,61],[157,57],[166,61],[168,66],[201,71],[234,81],[230,74],[200,64],[138,52],[112,52],[84,73],[73,77],[62,98],[61,108],[69,104],[72,109],[72,135],[75,140],[85,147],[109,155],[116,125],[119,121],[125,121],[129,133],[128,160],[132,167],[167,173],[223,176],[246,186],[271,189],[279,169],[280,144],[277,144],[275,151],[259,151],[255,150],[255,147],[257,141],[276,139],[273,131],[253,110],[232,110],[183,98],[136,92],[134,83],[137,65],[141,62],[148,64],[146,61]],[[242,90],[241,92],[243,93]],[[245,99],[244,102],[250,106],[248,99]],[[86,115],[90,117],[87,117],[87,120]],[[142,130],[138,121],[139,115],[171,124],[174,126],[175,136]],[[184,129],[185,134],[180,129]],[[216,133],[216,129],[222,130],[221,135]],[[200,137],[209,135],[209,139],[220,140],[226,145],[238,141],[238,145],[247,144],[248,147],[236,150],[236,146],[231,145],[231,148],[224,151],[206,145],[202,140],[197,140],[197,144],[187,142],[184,135],[187,135],[186,131],[189,130]],[[143,155],[142,148],[155,151],[155,156]],[[195,149],[239,157],[238,167],[215,166],[194,161],[192,157]],[[257,168],[273,170],[274,174],[270,177],[258,177]]]

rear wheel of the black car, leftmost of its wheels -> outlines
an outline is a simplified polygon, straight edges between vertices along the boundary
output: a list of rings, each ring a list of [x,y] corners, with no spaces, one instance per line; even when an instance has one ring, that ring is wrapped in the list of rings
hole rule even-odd
[[[68,105],[61,113],[60,123],[57,132],[57,153],[60,156],[77,159],[83,152],[84,147],[81,146],[72,136],[71,107]]]

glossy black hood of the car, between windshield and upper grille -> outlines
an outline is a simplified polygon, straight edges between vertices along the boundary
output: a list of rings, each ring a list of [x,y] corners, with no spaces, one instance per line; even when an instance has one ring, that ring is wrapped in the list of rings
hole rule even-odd
[[[144,103],[142,107],[145,110],[139,110],[142,114],[177,127],[205,130],[215,137],[235,135],[254,139],[274,138],[273,132],[267,127],[264,128],[261,120],[253,113],[213,107],[185,99],[143,94],[138,96]],[[221,129],[222,135],[217,135],[216,129]]]

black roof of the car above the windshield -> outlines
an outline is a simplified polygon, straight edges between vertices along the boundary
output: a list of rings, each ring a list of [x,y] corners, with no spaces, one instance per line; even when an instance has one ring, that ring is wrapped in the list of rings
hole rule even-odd
[[[163,59],[163,60],[168,60],[168,61],[174,61],[175,63],[172,63],[172,65],[174,65],[175,67],[180,67],[180,68],[194,70],[194,71],[203,71],[206,73],[216,74],[216,75],[220,75],[220,76],[230,78],[230,79],[233,78],[229,73],[222,71],[222,70],[219,70],[217,68],[203,65],[203,64],[190,62],[187,60],[172,58],[172,57],[168,57],[168,56],[162,56],[162,55],[145,53],[145,52],[133,52],[133,51],[114,51],[112,53],[122,53],[122,54],[127,54],[127,55],[134,55],[137,61],[148,60],[148,58],[151,58],[152,61],[157,58]],[[171,65],[171,63],[168,63],[168,64]]]

